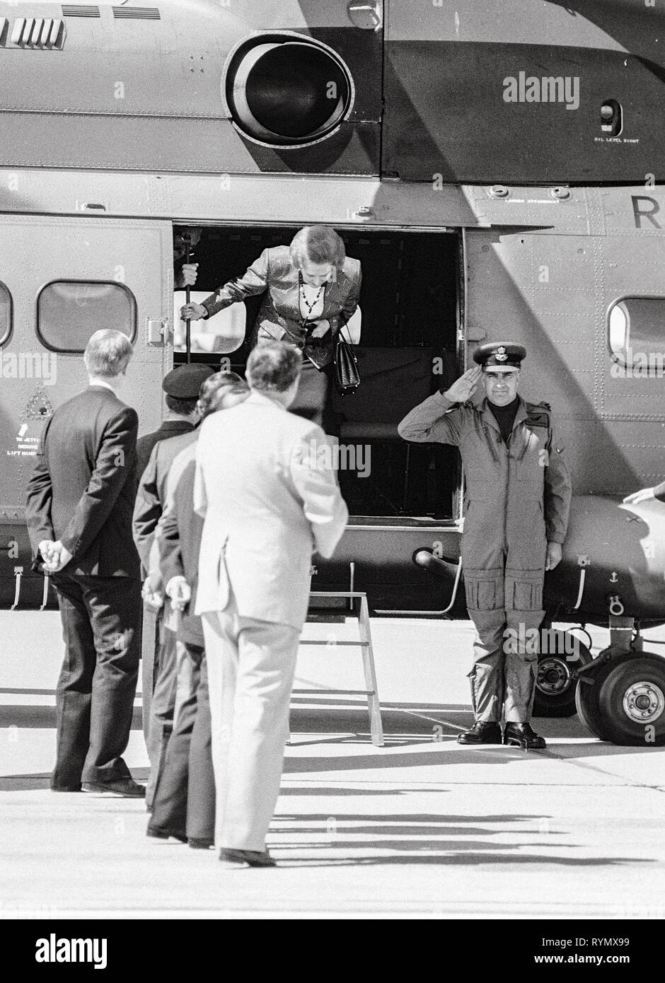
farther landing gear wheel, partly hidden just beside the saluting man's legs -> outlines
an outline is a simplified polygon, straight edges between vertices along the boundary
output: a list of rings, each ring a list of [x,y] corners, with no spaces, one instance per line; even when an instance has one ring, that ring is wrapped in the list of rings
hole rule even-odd
[[[572,675],[574,669],[591,662],[591,653],[578,638],[566,631],[550,629],[541,637],[548,639],[544,646],[548,651],[538,656],[533,716],[573,717],[576,681]]]

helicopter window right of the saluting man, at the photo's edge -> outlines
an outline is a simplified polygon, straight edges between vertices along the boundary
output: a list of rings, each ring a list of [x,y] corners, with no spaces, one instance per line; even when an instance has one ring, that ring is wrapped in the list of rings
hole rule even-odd
[[[665,368],[665,297],[624,297],[608,312],[612,358],[627,368]]]

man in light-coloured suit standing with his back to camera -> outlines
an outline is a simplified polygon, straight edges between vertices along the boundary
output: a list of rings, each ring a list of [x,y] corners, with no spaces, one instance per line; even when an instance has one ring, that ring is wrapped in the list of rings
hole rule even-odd
[[[288,413],[302,364],[285,342],[255,348],[248,399],[204,421],[194,505],[205,517],[196,613],[203,616],[225,866],[269,867],[312,552],[332,556],[348,518],[326,434]],[[330,448],[329,448],[330,449]]]

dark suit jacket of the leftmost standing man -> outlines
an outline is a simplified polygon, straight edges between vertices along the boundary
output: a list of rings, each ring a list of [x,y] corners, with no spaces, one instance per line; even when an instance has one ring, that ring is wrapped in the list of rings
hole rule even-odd
[[[139,418],[110,389],[91,385],[46,424],[28,484],[30,545],[61,540],[68,573],[139,577],[132,539]]]

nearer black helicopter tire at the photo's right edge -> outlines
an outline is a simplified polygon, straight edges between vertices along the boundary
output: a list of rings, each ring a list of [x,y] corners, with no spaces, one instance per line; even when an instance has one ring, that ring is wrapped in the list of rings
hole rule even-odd
[[[597,681],[605,740],[629,747],[665,744],[665,659],[647,652],[628,656]]]

